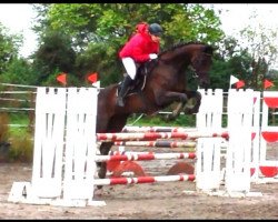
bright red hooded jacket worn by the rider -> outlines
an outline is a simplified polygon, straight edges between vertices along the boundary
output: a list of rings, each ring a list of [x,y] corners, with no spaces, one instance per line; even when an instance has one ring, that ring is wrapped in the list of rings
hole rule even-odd
[[[159,42],[153,42],[147,30],[147,23],[137,24],[137,33],[129,39],[119,52],[121,59],[130,57],[135,62],[146,62],[150,59],[150,53],[159,52]]]

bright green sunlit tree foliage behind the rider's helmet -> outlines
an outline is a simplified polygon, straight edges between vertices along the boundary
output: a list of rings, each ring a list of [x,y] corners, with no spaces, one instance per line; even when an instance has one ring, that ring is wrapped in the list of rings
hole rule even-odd
[[[46,20],[80,49],[99,41],[122,44],[140,21],[161,23],[169,44],[180,40],[216,42],[222,36],[214,10],[200,4],[59,3],[48,6]]]

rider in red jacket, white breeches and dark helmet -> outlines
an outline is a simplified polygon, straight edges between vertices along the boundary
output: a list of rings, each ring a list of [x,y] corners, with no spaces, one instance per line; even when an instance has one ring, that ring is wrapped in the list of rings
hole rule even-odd
[[[119,57],[127,71],[117,99],[119,107],[125,105],[123,97],[128,91],[129,84],[136,79],[136,63],[143,63],[148,60],[157,59],[157,53],[160,48],[160,36],[162,34],[160,24],[141,22],[137,24],[136,28],[136,34],[128,40],[119,52]]]

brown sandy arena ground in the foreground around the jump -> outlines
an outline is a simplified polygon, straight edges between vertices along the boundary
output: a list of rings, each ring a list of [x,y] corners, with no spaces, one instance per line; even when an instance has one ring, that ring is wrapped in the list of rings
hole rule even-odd
[[[161,150],[161,149],[160,149]],[[169,152],[169,149],[168,149]],[[274,152],[276,153],[276,152]],[[148,174],[166,174],[170,161],[146,161]],[[278,183],[251,184],[262,196],[209,196],[193,182],[103,186],[106,206],[64,208],[8,202],[13,182],[31,181],[31,164],[0,163],[0,219],[278,219]]]

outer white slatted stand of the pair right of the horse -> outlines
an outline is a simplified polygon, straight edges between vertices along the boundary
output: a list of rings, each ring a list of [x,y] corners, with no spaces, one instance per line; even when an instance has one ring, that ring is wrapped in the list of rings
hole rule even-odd
[[[225,186],[229,194],[250,191],[250,155],[254,91],[229,90],[228,132]]]

